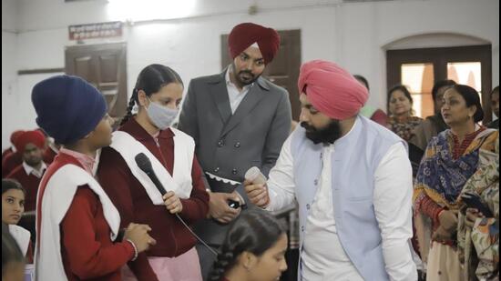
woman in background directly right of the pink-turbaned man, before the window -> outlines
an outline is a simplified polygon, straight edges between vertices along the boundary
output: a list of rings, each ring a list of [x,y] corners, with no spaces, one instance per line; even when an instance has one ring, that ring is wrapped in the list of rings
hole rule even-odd
[[[408,142],[414,136],[414,128],[423,119],[413,115],[413,97],[404,85],[395,85],[388,91],[387,127]]]

